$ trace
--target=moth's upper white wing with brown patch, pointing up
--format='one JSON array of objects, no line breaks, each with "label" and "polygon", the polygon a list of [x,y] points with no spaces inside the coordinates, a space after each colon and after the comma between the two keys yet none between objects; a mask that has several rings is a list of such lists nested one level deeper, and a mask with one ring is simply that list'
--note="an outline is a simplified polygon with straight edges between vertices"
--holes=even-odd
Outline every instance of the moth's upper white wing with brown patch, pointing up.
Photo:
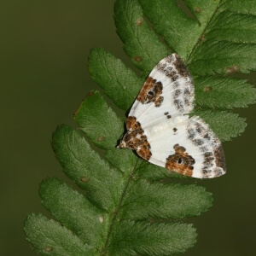
[{"label": "moth's upper white wing with brown patch, pointing up", "polygon": [[190,113],[194,97],[189,70],[177,54],[172,54],[161,60],[148,75],[129,116],[135,116],[144,125],[154,125],[160,119]]}]

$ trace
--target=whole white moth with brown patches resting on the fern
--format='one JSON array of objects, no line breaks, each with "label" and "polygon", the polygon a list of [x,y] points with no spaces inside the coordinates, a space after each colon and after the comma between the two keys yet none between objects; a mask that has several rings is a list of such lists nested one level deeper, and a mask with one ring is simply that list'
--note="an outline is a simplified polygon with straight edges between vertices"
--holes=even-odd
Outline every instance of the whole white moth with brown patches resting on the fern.
[{"label": "whole white moth with brown patches resting on the fern", "polygon": [[126,121],[118,148],[131,148],[144,160],[189,177],[218,177],[226,172],[224,150],[194,109],[195,89],[177,54],[162,59],[149,73]]}]

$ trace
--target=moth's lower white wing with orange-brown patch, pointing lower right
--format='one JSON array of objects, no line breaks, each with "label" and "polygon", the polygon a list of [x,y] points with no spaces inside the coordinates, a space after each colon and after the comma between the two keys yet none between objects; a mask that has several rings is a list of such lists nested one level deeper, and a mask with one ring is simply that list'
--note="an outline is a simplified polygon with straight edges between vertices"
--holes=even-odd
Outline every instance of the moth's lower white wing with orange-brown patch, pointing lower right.
[{"label": "moth's lower white wing with orange-brown patch, pointing lower right", "polygon": [[226,171],[218,137],[198,116],[177,117],[143,131],[150,145],[148,161],[154,165],[199,178],[218,177]]}]

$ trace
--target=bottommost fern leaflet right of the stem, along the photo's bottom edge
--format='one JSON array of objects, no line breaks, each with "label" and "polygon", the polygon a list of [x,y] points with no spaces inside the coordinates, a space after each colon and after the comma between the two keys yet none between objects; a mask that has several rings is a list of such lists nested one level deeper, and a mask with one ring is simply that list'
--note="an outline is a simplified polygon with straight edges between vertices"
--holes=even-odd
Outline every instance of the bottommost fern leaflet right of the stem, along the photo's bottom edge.
[{"label": "bottommost fern leaflet right of the stem, along the photo's bottom edge", "polygon": [[191,224],[123,221],[113,229],[108,255],[172,255],[195,243]]}]

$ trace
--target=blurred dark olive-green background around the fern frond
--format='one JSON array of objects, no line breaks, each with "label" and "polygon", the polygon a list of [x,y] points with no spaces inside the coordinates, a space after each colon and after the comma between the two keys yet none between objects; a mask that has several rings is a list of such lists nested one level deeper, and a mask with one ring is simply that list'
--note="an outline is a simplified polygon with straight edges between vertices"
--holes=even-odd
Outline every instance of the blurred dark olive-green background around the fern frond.
[{"label": "blurred dark olive-green background around the fern frond", "polygon": [[[113,0],[13,0],[0,3],[1,235],[0,255],[37,255],[22,231],[40,205],[45,177],[67,178],[50,146],[59,124],[74,125],[73,112],[91,89],[87,58],[103,47],[129,63],[115,33]],[[256,60],[255,60],[256,61]],[[256,75],[249,81],[256,84]],[[214,207],[195,224],[198,242],[184,255],[253,255],[256,234],[256,105],[236,110],[247,130],[224,143],[228,173],[197,183],[214,195]],[[69,182],[70,183],[70,182]]]}]

